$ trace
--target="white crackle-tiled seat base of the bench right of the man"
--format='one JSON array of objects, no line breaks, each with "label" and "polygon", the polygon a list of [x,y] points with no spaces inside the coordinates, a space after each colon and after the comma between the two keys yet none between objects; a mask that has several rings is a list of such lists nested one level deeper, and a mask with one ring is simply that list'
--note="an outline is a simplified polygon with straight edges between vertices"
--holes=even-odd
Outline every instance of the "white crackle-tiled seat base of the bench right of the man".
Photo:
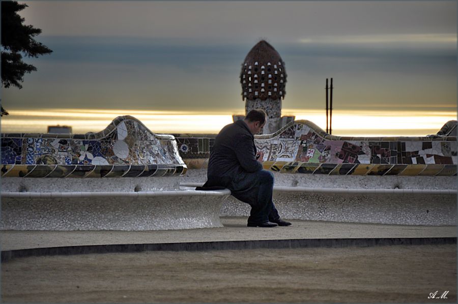
[{"label": "white crackle-tiled seat base of the bench right of the man", "polygon": [[[202,183],[181,183],[197,187]],[[398,225],[456,225],[456,190],[344,189],[274,186],[285,219]],[[221,216],[249,216],[250,207],[227,199]]]}]

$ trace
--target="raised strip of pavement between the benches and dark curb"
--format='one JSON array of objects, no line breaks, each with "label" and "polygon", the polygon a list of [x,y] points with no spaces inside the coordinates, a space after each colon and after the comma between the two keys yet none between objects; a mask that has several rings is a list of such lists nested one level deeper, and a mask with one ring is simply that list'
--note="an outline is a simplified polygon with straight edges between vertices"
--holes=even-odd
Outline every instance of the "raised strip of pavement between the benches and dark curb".
[{"label": "raised strip of pavement between the benches and dark curb", "polygon": [[[3,252],[42,249],[42,254],[46,254],[43,249],[80,246],[90,248],[101,245],[150,245],[149,248],[143,250],[345,247],[378,245],[380,240],[384,240],[383,243],[387,245],[410,244],[406,240],[412,239],[423,240],[423,242],[420,241],[416,244],[435,244],[435,242],[444,242],[443,239],[449,239],[446,241],[449,242],[450,238],[454,238],[454,242],[456,242],[457,234],[456,226],[410,226],[292,220],[293,225],[290,227],[253,228],[246,227],[246,220],[242,217],[225,217],[221,218],[224,227],[187,230],[9,230],[1,232],[1,246]],[[275,243],[278,245],[275,246]],[[152,245],[156,246],[151,247]],[[160,246],[158,247],[158,245]],[[121,247],[117,247],[117,249],[113,248],[110,251],[141,251],[139,247],[135,249],[130,246],[129,248],[123,250]],[[73,250],[75,249],[73,248]],[[100,250],[90,252],[100,252]]]}]

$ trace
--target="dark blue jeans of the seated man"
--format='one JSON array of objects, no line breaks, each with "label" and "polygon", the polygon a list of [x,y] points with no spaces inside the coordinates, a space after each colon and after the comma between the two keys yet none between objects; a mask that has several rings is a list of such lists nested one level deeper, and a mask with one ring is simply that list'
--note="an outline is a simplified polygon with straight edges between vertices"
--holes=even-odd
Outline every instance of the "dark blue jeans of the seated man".
[{"label": "dark blue jeans of the seated man", "polygon": [[280,217],[272,201],[273,173],[267,170],[239,172],[236,177],[208,176],[206,186],[223,186],[232,196],[251,206],[248,223],[260,224]]}]

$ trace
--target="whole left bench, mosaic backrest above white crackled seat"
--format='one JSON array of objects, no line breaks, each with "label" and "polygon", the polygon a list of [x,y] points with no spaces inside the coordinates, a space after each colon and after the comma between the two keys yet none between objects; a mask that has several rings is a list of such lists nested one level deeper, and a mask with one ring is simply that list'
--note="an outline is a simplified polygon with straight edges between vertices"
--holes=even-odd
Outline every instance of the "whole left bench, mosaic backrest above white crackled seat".
[{"label": "whole left bench, mosaic backrest above white crackled seat", "polygon": [[230,191],[186,191],[171,135],[121,116],[99,133],[2,134],[7,230],[159,230],[221,227]]}]

